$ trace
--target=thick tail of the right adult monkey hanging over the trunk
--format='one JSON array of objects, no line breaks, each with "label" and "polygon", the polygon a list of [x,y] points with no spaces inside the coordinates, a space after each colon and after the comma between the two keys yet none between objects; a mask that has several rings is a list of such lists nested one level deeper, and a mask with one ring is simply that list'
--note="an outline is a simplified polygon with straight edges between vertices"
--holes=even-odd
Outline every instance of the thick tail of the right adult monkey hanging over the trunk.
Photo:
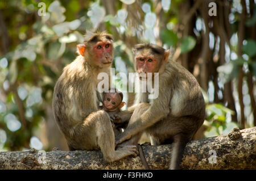
[{"label": "thick tail of the right adult monkey hanging over the trunk", "polygon": [[169,169],[177,170],[180,169],[180,162],[183,156],[185,146],[188,142],[188,136],[185,134],[177,134],[174,137],[174,146],[172,148],[172,158]]}]

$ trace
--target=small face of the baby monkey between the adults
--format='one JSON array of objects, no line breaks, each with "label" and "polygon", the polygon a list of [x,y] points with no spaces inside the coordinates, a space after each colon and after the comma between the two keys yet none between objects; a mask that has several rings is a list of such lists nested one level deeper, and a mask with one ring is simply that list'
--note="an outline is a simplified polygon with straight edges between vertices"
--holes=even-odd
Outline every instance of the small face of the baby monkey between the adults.
[{"label": "small face of the baby monkey between the adults", "polygon": [[108,111],[117,110],[119,104],[121,104],[122,100],[120,96],[116,93],[106,93],[103,100],[103,107]]}]

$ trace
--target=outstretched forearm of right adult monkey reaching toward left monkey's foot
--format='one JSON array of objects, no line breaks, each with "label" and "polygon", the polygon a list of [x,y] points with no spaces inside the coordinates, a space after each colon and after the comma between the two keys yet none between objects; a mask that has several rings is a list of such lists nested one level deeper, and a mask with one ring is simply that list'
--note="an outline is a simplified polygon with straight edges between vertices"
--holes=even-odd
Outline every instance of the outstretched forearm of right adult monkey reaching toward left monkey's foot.
[{"label": "outstretched forearm of right adult monkey reaching toward left monkey's foot", "polygon": [[[159,81],[159,87],[170,87],[168,85],[161,85]],[[144,112],[137,120],[129,122],[125,131],[121,134],[121,137],[117,139],[116,144],[121,144],[125,140],[129,140],[131,136],[139,132],[144,131],[144,129],[155,124],[159,120],[163,119],[170,112],[170,100],[171,100],[171,89],[160,89],[159,96],[154,99],[146,112]]]}]

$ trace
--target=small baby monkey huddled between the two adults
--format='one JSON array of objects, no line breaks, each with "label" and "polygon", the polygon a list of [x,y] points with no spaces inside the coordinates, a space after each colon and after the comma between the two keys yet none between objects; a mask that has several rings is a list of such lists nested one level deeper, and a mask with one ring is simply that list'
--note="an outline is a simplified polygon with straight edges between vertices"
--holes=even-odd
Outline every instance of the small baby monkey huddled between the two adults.
[{"label": "small baby monkey huddled between the two adults", "polygon": [[123,94],[117,89],[109,89],[109,92],[104,92],[103,96],[103,106],[101,108],[108,112],[114,134],[117,136],[122,132],[122,128],[127,127],[133,111],[121,110],[126,103],[122,102]]}]

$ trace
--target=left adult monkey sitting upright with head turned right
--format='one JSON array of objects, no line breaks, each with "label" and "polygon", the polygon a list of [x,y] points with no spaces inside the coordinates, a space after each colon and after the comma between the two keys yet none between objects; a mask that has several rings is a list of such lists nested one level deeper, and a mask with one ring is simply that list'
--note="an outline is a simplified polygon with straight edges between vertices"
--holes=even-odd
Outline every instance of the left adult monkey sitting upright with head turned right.
[{"label": "left adult monkey sitting upright with head turned right", "polygon": [[[136,146],[115,150],[114,132],[108,113],[99,110],[98,73],[110,73],[113,38],[105,32],[87,33],[80,54],[65,66],[53,92],[53,114],[70,150],[100,148],[106,161],[137,155]],[[107,144],[106,144],[107,143]]]}]

